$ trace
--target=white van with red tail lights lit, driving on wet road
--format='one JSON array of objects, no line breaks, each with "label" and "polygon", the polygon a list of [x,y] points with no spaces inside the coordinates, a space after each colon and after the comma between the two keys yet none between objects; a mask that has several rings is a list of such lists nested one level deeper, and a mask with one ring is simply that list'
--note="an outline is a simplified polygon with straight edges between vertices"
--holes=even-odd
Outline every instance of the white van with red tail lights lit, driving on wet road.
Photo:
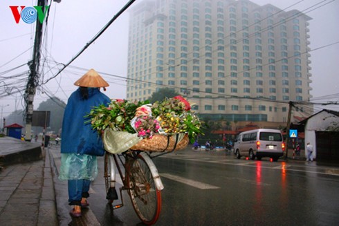
[{"label": "white van with red tail lights lit, driving on wet road", "polygon": [[269,157],[277,161],[284,156],[285,144],[278,129],[253,129],[239,133],[234,148],[238,159],[241,156],[248,156],[251,160]]}]

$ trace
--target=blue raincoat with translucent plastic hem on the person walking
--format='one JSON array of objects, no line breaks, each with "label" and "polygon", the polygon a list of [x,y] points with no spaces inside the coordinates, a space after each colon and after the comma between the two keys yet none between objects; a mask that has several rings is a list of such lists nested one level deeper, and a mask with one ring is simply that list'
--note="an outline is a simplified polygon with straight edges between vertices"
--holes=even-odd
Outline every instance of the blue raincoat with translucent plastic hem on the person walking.
[{"label": "blue raincoat with translucent plastic hem on the person walking", "polygon": [[111,102],[99,88],[88,88],[87,100],[82,100],[80,88],[71,94],[64,111],[62,122],[62,164],[59,171],[60,180],[94,180],[98,175],[96,156],[104,155],[102,139],[91,123],[86,123],[87,115],[93,106]]}]

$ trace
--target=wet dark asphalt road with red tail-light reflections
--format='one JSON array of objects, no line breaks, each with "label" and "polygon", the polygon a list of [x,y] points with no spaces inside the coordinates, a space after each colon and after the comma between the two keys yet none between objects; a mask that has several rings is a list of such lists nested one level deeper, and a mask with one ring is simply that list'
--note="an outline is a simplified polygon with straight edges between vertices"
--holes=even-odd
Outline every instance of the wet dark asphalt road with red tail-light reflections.
[{"label": "wet dark asphalt road with red tail-light reflections", "polygon": [[[56,161],[57,162],[57,161]],[[156,225],[338,225],[339,169],[316,162],[237,160],[225,153],[170,153],[154,158],[165,189]],[[57,165],[57,164],[56,164]],[[100,158],[99,175],[103,175]],[[56,185],[67,216],[66,184]],[[141,225],[127,193],[107,205],[102,176],[89,203],[100,225]],[[58,204],[59,205],[59,204]]]}]

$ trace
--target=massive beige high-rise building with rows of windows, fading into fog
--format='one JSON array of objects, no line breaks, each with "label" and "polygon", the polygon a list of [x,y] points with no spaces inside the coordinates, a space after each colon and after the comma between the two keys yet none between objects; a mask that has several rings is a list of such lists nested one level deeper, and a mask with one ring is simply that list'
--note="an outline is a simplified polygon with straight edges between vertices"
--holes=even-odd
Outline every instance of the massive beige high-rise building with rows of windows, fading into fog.
[{"label": "massive beige high-rise building with rows of windows, fading into fog", "polygon": [[248,0],[144,0],[130,10],[127,99],[174,88],[211,119],[286,122],[288,102],[311,97],[310,19]]}]

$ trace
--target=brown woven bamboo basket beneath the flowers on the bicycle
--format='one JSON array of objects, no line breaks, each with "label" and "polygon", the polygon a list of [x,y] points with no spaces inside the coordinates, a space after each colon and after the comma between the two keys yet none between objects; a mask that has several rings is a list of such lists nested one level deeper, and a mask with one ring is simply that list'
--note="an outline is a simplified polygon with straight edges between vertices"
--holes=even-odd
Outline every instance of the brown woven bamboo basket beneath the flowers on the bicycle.
[{"label": "brown woven bamboo basket beneath the flowers on the bicycle", "polygon": [[176,135],[160,135],[156,134],[152,139],[143,139],[138,144],[129,148],[138,151],[178,151],[185,149],[189,142],[188,135],[178,133]]}]

